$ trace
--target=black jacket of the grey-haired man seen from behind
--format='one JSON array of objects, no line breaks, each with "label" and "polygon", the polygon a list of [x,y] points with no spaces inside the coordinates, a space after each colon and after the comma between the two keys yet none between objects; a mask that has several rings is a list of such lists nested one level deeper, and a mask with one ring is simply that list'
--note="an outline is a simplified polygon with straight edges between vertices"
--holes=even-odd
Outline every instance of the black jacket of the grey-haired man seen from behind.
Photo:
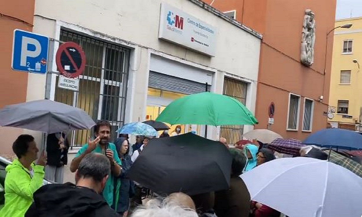
[{"label": "black jacket of the grey-haired man seen from behind", "polygon": [[119,217],[102,195],[72,183],[47,184],[34,193],[25,217]]}]

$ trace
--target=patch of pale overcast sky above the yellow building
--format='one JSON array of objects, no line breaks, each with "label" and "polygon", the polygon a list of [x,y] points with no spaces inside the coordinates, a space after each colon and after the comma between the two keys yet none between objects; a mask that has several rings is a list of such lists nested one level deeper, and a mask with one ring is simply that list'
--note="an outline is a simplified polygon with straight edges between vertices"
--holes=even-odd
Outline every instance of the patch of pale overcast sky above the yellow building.
[{"label": "patch of pale overcast sky above the yellow building", "polygon": [[336,20],[362,17],[362,0],[337,0]]}]

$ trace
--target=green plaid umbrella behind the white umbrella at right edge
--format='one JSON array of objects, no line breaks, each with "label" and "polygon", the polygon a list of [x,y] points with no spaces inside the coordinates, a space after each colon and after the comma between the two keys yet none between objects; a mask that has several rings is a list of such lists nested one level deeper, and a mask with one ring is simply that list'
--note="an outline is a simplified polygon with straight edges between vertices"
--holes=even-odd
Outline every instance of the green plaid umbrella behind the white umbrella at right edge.
[{"label": "green plaid umbrella behind the white umbrella at right edge", "polygon": [[[324,150],[324,152],[329,154],[329,150]],[[329,156],[329,161],[338,164],[352,171],[358,176],[362,177],[362,165],[348,157],[338,154],[337,152],[331,151],[331,156]]]}]

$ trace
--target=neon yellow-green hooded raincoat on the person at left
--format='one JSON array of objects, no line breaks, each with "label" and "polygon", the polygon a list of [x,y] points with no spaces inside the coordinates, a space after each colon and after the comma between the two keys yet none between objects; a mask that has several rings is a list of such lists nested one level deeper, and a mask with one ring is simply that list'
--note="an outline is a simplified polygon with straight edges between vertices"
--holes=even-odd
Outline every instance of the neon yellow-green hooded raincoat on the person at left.
[{"label": "neon yellow-green hooded raincoat on the person at left", "polygon": [[6,167],[5,206],[0,216],[24,217],[33,203],[33,193],[43,185],[44,166],[31,165],[33,175],[18,159]]}]

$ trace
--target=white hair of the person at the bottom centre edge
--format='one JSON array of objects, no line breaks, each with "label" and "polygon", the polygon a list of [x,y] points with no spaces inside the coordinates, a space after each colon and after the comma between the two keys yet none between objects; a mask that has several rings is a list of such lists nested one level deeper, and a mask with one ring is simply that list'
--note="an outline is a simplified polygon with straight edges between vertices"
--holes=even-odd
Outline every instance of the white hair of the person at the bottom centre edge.
[{"label": "white hair of the person at the bottom centre edge", "polygon": [[131,217],[198,217],[195,210],[181,207],[173,200],[153,199],[136,209]]}]

